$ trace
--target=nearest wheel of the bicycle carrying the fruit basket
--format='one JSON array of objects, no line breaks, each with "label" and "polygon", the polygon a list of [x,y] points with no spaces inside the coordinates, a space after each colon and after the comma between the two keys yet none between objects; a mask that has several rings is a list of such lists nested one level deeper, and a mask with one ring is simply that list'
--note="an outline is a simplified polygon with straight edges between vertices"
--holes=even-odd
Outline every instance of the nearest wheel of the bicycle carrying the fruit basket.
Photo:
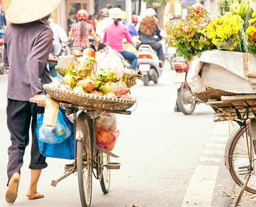
[{"label": "nearest wheel of the bicycle carrying the fruit basket", "polygon": [[89,117],[80,113],[77,117],[77,174],[80,201],[82,207],[89,207],[92,200],[92,127]]}]

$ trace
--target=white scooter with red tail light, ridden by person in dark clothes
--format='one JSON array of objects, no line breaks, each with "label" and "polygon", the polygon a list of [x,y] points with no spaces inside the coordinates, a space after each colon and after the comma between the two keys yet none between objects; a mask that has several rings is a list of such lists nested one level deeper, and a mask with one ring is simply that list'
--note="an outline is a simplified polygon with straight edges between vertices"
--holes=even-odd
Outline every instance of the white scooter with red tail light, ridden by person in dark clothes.
[{"label": "white scooter with red tail light, ridden by person in dark clothes", "polygon": [[137,53],[137,68],[143,73],[143,84],[148,86],[150,81],[158,83],[163,66],[159,66],[159,58],[156,51],[147,44],[140,45]]}]

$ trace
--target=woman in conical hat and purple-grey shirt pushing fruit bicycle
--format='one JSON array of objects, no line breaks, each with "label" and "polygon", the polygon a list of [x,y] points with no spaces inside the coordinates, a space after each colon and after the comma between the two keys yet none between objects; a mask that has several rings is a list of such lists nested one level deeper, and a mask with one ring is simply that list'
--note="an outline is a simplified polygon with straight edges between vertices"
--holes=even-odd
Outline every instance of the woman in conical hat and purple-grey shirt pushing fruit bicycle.
[{"label": "woman in conical hat and purple-grey shirt pushing fruit bicycle", "polygon": [[6,201],[13,203],[17,197],[20,168],[25,148],[29,143],[31,124],[32,145],[31,181],[27,192],[29,199],[43,198],[37,192],[41,169],[47,167],[46,158],[38,149],[36,138],[37,114],[44,108],[29,102],[31,97],[45,98],[42,84],[50,83],[46,68],[53,42],[51,29],[41,21],[52,13],[61,0],[12,0],[6,19],[3,60],[9,66],[7,89],[7,126],[11,146],[8,148],[8,189]]}]

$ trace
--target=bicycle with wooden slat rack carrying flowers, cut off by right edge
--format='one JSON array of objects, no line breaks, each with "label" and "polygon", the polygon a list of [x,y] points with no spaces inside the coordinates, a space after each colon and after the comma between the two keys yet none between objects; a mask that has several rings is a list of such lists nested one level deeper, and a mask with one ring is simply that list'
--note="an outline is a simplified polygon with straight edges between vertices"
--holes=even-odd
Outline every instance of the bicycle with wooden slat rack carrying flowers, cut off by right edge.
[{"label": "bicycle with wooden slat rack carrying flowers, cut off by right edge", "polygon": [[215,121],[236,121],[239,126],[230,135],[225,148],[225,165],[241,191],[234,204],[237,207],[247,191],[256,194],[256,96],[222,96],[221,101],[208,101],[215,113]]}]

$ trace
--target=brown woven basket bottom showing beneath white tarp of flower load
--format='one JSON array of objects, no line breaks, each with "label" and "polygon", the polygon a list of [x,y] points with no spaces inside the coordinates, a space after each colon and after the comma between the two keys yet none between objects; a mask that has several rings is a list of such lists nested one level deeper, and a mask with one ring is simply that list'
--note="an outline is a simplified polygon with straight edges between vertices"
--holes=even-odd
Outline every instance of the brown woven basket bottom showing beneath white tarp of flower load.
[{"label": "brown woven basket bottom showing beneath white tarp of flower load", "polygon": [[200,100],[207,102],[209,99],[217,99],[221,100],[221,96],[228,96],[228,95],[237,95],[236,93],[231,93],[227,91],[223,91],[220,89],[214,89],[210,87],[205,87],[206,91],[202,93],[195,93]]}]

